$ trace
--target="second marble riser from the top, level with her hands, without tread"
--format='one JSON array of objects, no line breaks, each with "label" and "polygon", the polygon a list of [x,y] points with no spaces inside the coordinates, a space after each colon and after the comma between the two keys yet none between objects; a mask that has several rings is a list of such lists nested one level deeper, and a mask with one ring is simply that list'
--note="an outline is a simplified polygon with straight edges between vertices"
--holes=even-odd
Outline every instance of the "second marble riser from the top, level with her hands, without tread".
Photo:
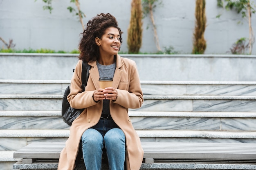
[{"label": "second marble riser from the top, level with her hands, without tread", "polygon": [[[0,110],[61,110],[61,106],[62,99],[0,99]],[[145,99],[134,110],[256,112],[256,100]]]}]

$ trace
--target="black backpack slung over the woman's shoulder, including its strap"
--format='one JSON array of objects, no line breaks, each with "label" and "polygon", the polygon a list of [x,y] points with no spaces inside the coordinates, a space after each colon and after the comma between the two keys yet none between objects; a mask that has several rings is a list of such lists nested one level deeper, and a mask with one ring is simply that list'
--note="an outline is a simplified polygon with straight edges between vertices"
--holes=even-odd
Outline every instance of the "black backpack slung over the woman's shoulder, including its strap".
[{"label": "black backpack slung over the woman's shoulder, including its strap", "polygon": [[[85,86],[87,85],[87,81],[88,81],[88,77],[89,77],[89,70],[90,70],[90,66],[83,62],[82,64],[82,85],[81,88],[83,89],[83,91],[85,91]],[[74,72],[74,69],[73,69]],[[63,121],[71,126],[72,122],[74,121],[74,119],[76,119],[84,110],[84,108],[82,109],[75,109],[70,107],[70,103],[67,101],[67,95],[70,94],[70,84],[67,86],[64,95],[63,95],[63,99],[62,99],[62,108],[61,108],[61,114],[62,114],[62,119]]]}]

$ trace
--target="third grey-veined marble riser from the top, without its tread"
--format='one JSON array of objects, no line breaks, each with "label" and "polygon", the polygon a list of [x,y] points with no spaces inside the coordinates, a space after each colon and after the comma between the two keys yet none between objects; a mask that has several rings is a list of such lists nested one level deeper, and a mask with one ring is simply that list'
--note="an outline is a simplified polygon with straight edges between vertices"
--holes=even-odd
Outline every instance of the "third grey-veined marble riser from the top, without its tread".
[{"label": "third grey-veined marble riser from the top, without its tread", "polygon": [[[68,129],[61,117],[2,116],[0,129]],[[136,130],[256,130],[255,118],[130,117]]]}]

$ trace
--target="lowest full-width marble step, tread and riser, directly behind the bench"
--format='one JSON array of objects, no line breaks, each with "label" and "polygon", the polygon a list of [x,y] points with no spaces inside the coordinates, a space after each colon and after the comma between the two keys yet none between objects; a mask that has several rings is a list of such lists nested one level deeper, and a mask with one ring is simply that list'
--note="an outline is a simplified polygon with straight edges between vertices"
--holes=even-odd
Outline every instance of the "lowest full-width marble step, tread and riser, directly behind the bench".
[{"label": "lowest full-width marble step, tread and riser, directly behind the bench", "polygon": [[[256,143],[255,131],[136,130],[144,142]],[[31,142],[65,142],[69,130],[0,130],[0,150],[18,150]]]}]

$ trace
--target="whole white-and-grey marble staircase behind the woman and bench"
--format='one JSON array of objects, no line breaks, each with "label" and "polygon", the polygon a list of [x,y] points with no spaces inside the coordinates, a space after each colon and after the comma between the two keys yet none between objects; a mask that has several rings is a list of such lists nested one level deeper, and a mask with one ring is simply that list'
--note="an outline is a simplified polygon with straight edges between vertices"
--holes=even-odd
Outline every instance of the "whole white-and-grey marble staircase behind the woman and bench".
[{"label": "whole white-and-grey marble staircase behind the woman and bench", "polygon": [[[67,80],[0,79],[0,169],[31,142],[62,141]],[[141,81],[144,104],[130,110],[141,141],[256,143],[256,82]]]}]

